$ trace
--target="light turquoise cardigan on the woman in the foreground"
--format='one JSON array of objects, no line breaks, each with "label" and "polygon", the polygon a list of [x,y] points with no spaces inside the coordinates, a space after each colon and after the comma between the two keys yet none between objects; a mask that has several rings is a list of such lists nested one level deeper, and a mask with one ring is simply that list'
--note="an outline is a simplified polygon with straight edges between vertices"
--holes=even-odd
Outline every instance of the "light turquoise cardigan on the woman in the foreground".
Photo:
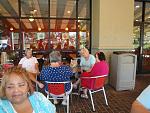
[{"label": "light turquoise cardigan on the woman in the foreground", "polygon": [[[35,113],[56,113],[55,106],[42,93],[34,92],[29,101]],[[15,113],[10,101],[0,99],[0,113]]]}]

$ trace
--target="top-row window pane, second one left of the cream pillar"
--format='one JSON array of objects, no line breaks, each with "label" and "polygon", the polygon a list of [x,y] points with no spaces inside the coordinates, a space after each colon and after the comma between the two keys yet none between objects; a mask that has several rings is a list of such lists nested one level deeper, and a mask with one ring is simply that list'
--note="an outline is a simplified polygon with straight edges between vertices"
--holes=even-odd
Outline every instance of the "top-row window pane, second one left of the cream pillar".
[{"label": "top-row window pane, second one left of the cream pillar", "polygon": [[76,0],[50,0],[50,17],[75,18]]}]

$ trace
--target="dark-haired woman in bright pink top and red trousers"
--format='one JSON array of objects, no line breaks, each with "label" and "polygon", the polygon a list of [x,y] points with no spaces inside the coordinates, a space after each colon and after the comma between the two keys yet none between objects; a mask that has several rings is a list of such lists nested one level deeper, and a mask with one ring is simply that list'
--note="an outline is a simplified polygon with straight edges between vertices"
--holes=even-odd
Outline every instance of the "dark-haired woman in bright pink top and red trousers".
[{"label": "dark-haired woman in bright pink top and red trousers", "polygon": [[[96,63],[92,67],[91,71],[83,72],[81,74],[81,77],[94,77],[94,76],[100,76],[100,75],[108,75],[109,67],[106,62],[105,54],[103,52],[97,52],[95,54],[95,58],[96,58]],[[83,94],[81,95],[81,97],[88,98],[86,88],[90,88],[93,81],[94,80],[92,79],[91,80],[81,79],[81,86],[85,88],[83,89]]]}]

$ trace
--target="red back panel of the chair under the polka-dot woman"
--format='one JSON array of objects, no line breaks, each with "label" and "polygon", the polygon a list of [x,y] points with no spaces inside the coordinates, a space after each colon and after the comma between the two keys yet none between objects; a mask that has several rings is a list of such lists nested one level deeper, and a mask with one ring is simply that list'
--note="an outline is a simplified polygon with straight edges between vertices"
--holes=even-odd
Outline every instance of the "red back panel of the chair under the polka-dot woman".
[{"label": "red back panel of the chair under the polka-dot woman", "polygon": [[48,83],[48,91],[54,95],[61,95],[65,93],[64,83]]}]

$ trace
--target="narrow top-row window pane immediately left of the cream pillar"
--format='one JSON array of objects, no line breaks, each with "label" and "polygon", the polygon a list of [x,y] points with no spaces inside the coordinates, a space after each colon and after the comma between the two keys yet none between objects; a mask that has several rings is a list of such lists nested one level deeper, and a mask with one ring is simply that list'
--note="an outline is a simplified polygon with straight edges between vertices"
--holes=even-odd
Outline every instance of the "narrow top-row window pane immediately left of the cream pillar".
[{"label": "narrow top-row window pane immediately left of the cream pillar", "polygon": [[79,0],[78,18],[90,18],[90,0]]}]

